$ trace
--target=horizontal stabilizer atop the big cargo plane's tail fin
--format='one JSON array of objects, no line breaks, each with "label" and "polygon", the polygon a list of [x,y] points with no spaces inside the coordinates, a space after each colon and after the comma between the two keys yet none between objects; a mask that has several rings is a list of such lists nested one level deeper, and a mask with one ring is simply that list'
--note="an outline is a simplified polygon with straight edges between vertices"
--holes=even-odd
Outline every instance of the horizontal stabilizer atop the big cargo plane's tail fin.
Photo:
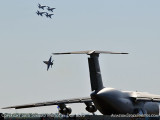
[{"label": "horizontal stabilizer atop the big cargo plane's tail fin", "polygon": [[75,51],[75,52],[63,52],[63,53],[53,53],[54,55],[61,55],[61,54],[128,54],[123,52],[111,52],[111,51],[98,51],[98,50],[88,50],[88,51]]}]

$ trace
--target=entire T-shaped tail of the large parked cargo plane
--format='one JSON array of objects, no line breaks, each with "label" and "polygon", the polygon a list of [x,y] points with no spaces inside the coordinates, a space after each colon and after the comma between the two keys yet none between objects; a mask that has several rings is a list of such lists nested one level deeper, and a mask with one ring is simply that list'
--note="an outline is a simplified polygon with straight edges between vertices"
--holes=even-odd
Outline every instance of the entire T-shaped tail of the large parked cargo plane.
[{"label": "entire T-shaped tail of the large parked cargo plane", "polygon": [[98,50],[88,50],[88,51],[76,51],[76,52],[62,52],[62,53],[53,53],[54,55],[62,54],[87,54],[90,55],[88,58],[89,72],[90,72],[90,82],[92,91],[99,91],[104,88],[102,82],[102,76],[99,66],[99,54],[128,54],[123,52],[111,52],[111,51],[98,51]]}]

